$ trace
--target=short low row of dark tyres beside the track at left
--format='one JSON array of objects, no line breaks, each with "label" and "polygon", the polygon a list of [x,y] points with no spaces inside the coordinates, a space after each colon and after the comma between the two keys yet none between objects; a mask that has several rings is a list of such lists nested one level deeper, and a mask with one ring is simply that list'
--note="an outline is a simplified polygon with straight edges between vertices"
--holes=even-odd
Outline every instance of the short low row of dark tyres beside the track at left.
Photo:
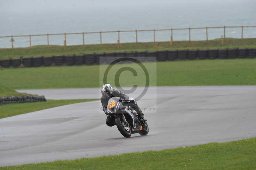
[{"label": "short low row of dark tyres beside the track at left", "polygon": [[46,98],[44,96],[0,97],[0,105],[11,104],[11,103],[31,103],[31,102],[46,102]]}]

